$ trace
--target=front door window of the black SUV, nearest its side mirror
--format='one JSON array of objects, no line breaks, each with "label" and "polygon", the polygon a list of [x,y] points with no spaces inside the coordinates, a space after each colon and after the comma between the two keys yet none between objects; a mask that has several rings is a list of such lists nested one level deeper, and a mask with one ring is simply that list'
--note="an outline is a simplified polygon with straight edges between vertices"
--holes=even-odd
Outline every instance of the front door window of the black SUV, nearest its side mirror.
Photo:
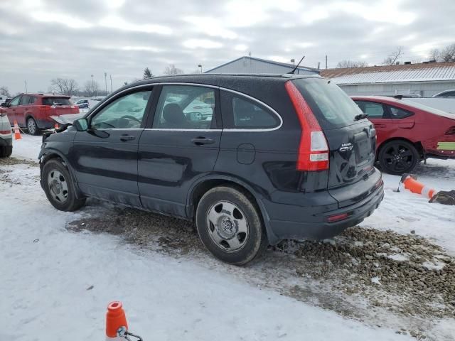
[{"label": "front door window of the black SUV, nearest its side mirror", "polygon": [[140,128],[151,91],[134,92],[107,105],[92,118],[95,129]]}]

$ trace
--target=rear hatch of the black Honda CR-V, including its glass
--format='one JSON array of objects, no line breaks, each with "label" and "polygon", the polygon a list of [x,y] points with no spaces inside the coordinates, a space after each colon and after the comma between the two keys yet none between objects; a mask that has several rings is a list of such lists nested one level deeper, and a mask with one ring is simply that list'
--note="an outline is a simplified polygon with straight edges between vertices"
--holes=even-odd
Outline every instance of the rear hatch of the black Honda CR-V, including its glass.
[{"label": "rear hatch of the black Honda CR-V, including its glass", "polygon": [[329,148],[328,192],[339,207],[363,200],[380,185],[374,167],[376,131],[331,80],[302,78],[294,85],[319,121]]}]

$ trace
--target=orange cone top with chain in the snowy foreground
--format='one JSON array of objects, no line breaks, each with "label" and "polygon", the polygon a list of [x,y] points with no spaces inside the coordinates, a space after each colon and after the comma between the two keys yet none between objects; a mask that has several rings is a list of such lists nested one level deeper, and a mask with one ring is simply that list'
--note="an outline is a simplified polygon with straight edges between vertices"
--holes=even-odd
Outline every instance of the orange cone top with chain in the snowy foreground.
[{"label": "orange cone top with chain in the snowy foreground", "polygon": [[106,340],[129,340],[129,337],[136,337],[142,341],[141,337],[128,331],[127,316],[123,310],[122,302],[114,301],[107,305],[106,313]]}]

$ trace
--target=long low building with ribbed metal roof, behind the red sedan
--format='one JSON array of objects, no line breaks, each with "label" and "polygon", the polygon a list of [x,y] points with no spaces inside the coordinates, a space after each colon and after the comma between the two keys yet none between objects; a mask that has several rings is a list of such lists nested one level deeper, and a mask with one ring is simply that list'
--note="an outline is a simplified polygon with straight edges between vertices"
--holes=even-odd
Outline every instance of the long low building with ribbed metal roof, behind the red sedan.
[{"label": "long low building with ribbed metal roof, behind the red sedan", "polygon": [[420,94],[455,89],[455,63],[418,63],[321,70],[348,94]]}]

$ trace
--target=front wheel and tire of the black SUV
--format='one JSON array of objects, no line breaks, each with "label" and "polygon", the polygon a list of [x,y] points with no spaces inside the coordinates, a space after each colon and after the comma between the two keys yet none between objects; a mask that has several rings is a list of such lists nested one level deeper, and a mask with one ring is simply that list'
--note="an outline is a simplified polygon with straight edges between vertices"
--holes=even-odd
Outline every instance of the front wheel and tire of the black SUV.
[{"label": "front wheel and tire of the black SUV", "polygon": [[41,181],[46,197],[57,210],[73,212],[85,205],[85,197],[76,197],[73,179],[60,159],[53,158],[44,164]]}]

